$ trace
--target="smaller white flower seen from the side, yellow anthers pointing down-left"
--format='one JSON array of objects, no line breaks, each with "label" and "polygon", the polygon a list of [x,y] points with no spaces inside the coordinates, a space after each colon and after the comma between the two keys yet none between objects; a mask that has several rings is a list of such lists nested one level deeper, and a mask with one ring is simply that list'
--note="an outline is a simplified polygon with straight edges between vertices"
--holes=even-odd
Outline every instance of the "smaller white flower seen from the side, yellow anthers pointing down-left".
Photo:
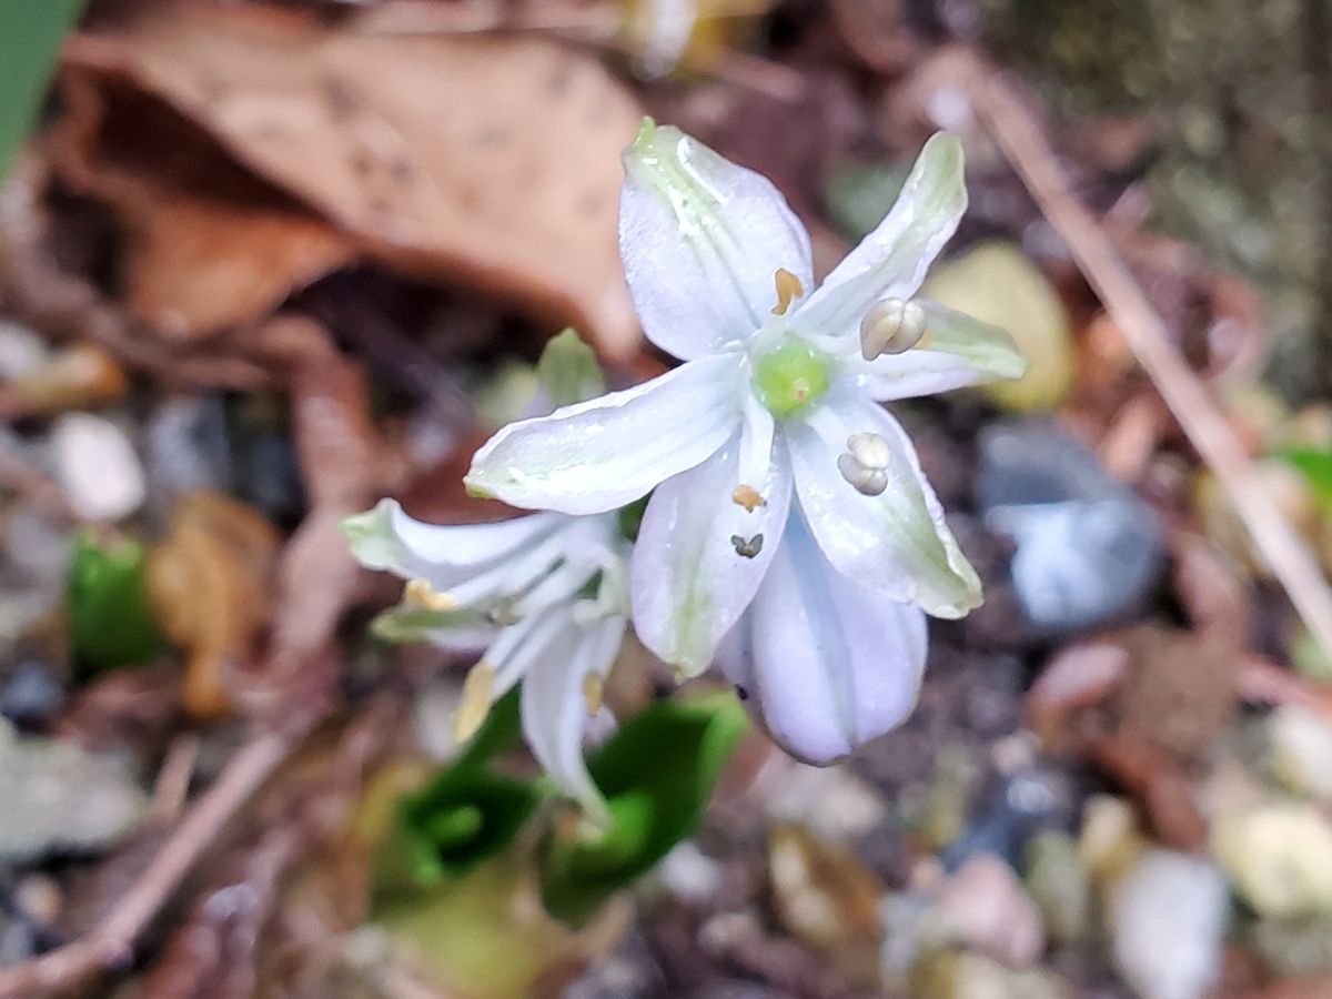
[{"label": "smaller white flower seen from the side, yellow anthers pointing down-left", "polygon": [[362,565],[409,581],[404,602],[377,622],[380,634],[458,651],[485,647],[454,715],[458,742],[522,681],[522,731],[533,754],[593,819],[605,819],[582,733],[603,710],[601,685],[629,615],[615,515],[437,526],[382,500],[342,530]]}]

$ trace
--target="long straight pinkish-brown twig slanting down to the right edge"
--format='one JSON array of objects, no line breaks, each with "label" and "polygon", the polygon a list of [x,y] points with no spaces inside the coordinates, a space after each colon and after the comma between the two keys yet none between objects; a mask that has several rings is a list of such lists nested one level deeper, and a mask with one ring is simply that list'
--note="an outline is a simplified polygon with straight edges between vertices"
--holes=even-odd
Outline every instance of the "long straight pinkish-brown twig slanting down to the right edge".
[{"label": "long straight pinkish-brown twig slanting down to the right edge", "polygon": [[1100,296],[1138,362],[1216,473],[1253,542],[1323,651],[1332,657],[1332,591],[1308,547],[1281,515],[1224,414],[1171,342],[1166,324],[1098,225],[1070,189],[1050,143],[1014,88],[979,55],[955,49],[939,57],[1059,232],[1087,282]]}]

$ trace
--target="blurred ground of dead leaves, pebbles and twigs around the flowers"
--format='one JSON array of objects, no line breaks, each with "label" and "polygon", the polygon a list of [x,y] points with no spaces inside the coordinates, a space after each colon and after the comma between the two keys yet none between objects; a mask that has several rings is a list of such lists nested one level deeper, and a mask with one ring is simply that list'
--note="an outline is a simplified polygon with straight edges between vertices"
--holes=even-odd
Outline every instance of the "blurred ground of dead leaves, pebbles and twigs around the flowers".
[{"label": "blurred ground of dead leaves, pebbles and twigs around the flowers", "polygon": [[[570,922],[534,826],[429,825],[469,662],[368,633],[336,525],[494,518],[566,325],[665,370],[645,113],[819,272],[959,135],[927,290],[1031,368],[895,406],[987,590],[911,719],[750,730]],[[0,995],[1332,995],[1325,0],[8,0],[0,173]]]}]

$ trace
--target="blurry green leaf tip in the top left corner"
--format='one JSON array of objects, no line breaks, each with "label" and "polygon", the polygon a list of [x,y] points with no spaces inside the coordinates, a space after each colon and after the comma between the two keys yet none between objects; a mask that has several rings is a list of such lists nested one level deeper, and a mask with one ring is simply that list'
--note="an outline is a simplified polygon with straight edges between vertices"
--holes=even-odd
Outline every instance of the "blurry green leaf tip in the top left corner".
[{"label": "blurry green leaf tip in the top left corner", "polygon": [[0,3],[0,177],[27,139],[83,0]]}]

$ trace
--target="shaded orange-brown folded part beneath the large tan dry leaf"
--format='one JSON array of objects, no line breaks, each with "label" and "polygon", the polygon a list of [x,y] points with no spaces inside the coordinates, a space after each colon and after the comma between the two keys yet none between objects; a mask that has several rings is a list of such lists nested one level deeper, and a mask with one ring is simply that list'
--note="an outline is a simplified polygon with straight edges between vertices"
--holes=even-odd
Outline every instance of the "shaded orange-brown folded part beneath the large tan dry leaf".
[{"label": "shaded orange-brown folded part beneath the large tan dry leaf", "polygon": [[174,340],[246,322],[353,260],[353,241],[236,165],[161,101],[71,63],[52,145],[75,189],[125,230],[125,309]]}]

